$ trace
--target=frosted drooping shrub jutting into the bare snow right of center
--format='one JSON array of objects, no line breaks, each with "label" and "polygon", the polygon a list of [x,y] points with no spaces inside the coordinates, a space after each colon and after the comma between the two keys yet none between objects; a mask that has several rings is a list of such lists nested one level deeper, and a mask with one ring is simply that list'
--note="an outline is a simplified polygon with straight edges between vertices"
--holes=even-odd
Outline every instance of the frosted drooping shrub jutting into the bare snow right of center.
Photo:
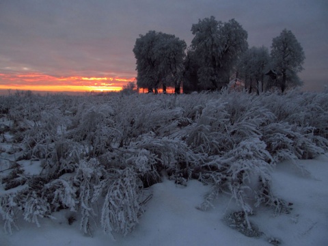
[{"label": "frosted drooping shrub jutting into the bare snow right of center", "polygon": [[258,189],[256,182],[259,179],[271,180],[269,163],[272,157],[265,148],[263,141],[250,138],[221,157],[211,157],[212,161],[204,164],[204,168],[211,172],[204,172],[203,177],[213,183],[213,191],[205,197],[199,209],[206,210],[217,194],[226,192],[241,206],[245,215],[252,213],[251,204],[247,200],[255,197]]}]

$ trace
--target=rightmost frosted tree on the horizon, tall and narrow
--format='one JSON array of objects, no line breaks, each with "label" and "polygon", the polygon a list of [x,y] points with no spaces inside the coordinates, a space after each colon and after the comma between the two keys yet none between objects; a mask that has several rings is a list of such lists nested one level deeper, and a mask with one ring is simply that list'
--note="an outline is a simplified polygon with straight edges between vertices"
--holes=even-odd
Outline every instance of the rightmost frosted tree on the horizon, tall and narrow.
[{"label": "rightmost frosted tree on the horizon, tall and narrow", "polygon": [[292,31],[284,29],[279,36],[273,38],[271,58],[274,69],[281,74],[280,89],[301,85],[297,72],[303,70],[305,54],[301,44]]}]

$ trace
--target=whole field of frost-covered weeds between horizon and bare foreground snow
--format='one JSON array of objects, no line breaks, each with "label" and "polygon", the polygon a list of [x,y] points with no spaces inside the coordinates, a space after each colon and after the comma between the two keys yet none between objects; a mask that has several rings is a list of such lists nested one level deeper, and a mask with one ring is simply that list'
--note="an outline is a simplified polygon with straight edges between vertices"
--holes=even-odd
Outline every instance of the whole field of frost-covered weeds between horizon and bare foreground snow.
[{"label": "whole field of frost-covered weeds between horizon and bare foreground snow", "polygon": [[248,216],[262,204],[289,213],[291,204],[272,192],[270,172],[277,162],[327,152],[327,98],[327,92],[229,90],[10,96],[0,109],[10,120],[5,141],[16,147],[8,154],[41,160],[43,169],[33,176],[18,167],[1,172],[9,193],[0,195],[5,230],[12,231],[16,217],[39,224],[70,209],[85,234],[97,221],[107,232],[126,234],[143,213],[144,188],[163,176],[213,185],[201,210],[228,194],[240,207],[230,219],[248,228]]}]

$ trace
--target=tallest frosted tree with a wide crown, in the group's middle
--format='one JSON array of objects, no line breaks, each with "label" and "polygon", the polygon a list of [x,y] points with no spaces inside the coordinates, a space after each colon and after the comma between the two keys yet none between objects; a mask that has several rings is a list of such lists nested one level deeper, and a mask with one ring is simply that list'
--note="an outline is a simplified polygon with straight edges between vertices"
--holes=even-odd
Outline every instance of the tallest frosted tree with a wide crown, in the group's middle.
[{"label": "tallest frosted tree with a wide crown, in the group's middle", "polygon": [[247,50],[247,31],[234,19],[228,23],[214,16],[199,20],[191,31],[191,51],[197,57],[197,79],[203,89],[221,89],[230,81],[236,61]]}]

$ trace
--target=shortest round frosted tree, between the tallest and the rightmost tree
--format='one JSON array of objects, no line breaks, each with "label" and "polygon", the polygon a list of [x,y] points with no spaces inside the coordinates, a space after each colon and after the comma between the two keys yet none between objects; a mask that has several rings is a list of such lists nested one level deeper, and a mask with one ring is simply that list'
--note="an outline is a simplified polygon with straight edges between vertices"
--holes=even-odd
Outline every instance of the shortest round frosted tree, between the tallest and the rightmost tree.
[{"label": "shortest round frosted tree, between the tallest and the rightmost tree", "polygon": [[249,85],[249,92],[253,88],[254,81],[256,82],[256,91],[258,94],[263,91],[264,75],[269,70],[271,62],[269,50],[265,46],[251,47],[241,57],[237,72],[239,77],[245,81],[245,85]]}]

